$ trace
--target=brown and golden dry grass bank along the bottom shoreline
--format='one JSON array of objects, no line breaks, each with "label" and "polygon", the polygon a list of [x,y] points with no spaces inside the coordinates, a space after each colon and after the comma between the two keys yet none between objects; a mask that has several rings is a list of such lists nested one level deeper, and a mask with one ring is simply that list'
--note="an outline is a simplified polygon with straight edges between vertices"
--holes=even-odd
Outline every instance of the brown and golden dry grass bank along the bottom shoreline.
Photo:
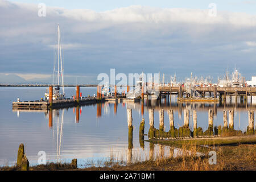
[{"label": "brown and golden dry grass bank along the bottom shoreline", "polygon": [[[204,147],[204,156],[197,156],[200,146],[183,144],[181,150],[190,151],[191,154],[184,152],[179,157],[158,155],[154,160],[146,160],[145,162],[137,162],[121,166],[118,163],[106,164],[104,167],[74,168],[72,164],[54,164],[39,165],[30,167],[30,171],[52,171],[52,170],[115,170],[115,171],[144,171],[144,170],[256,170],[256,145],[255,144],[239,144],[234,146],[215,146],[214,151],[217,154],[217,164],[210,165],[209,151],[212,148]],[[200,149],[200,152],[202,150]],[[18,167],[2,167],[0,170],[19,170]]]}]

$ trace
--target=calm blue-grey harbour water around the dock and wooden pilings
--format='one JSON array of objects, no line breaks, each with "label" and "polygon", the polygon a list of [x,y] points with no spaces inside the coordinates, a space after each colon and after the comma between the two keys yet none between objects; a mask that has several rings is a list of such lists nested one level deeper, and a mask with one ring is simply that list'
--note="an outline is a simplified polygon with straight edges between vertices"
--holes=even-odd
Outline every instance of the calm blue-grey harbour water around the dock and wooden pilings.
[{"label": "calm blue-grey harbour water around the dock and wooden pilings", "polygon": [[[96,88],[80,88],[82,96],[93,95]],[[12,102],[19,97],[21,101],[40,100],[44,96],[46,88],[0,88],[0,166],[13,165],[20,143],[24,143],[27,158],[31,165],[38,164],[38,152],[45,151],[47,162],[70,162],[77,158],[79,167],[84,167],[88,162],[108,160],[110,156],[126,160],[128,150],[127,108],[133,109],[133,161],[138,158],[148,159],[150,145],[144,142],[144,148],[139,143],[139,124],[145,119],[145,133],[149,129],[147,109],[155,107],[155,127],[159,127],[158,109],[164,109],[164,125],[166,131],[170,129],[167,110],[174,110],[175,127],[183,126],[183,109],[197,110],[197,126],[203,130],[208,128],[208,109],[215,110],[214,126],[223,126],[224,109],[234,109],[234,129],[245,131],[248,125],[247,111],[255,110],[255,98],[248,105],[237,105],[227,100],[224,105],[209,104],[183,104],[176,103],[172,96],[172,105],[168,101],[159,106],[159,103],[144,105],[144,113],[141,104],[114,104],[105,102],[102,105],[87,105],[79,108],[79,119],[76,117],[77,108],[53,110],[52,127],[49,127],[48,111],[14,111]],[[65,88],[66,96],[75,94],[75,88]],[[101,107],[101,113],[99,112]],[[98,111],[97,111],[98,108]],[[143,115],[142,115],[143,113]],[[192,118],[192,117],[191,117]],[[79,120],[79,121],[78,121]],[[192,128],[192,119],[191,128]],[[145,136],[145,139],[147,137]],[[170,147],[155,146],[155,155],[160,150],[166,151]]]}]

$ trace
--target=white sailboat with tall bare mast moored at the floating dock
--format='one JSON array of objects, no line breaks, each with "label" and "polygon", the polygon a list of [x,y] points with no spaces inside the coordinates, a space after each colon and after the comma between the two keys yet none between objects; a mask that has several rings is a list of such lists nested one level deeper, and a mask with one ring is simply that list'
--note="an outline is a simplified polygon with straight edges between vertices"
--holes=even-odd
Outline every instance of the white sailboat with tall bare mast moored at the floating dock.
[{"label": "white sailboat with tall bare mast moored at the floating dock", "polygon": [[[55,46],[56,51],[55,54],[57,56],[57,71],[55,70],[56,65],[56,59],[55,64],[53,67],[53,81],[52,85],[53,87],[53,93],[52,93],[52,100],[61,100],[65,98],[65,92],[64,92],[64,82],[63,82],[63,59],[62,59],[62,49],[61,49],[61,39],[60,39],[60,24],[58,24],[58,30],[57,30],[57,46]],[[57,73],[57,77],[55,77],[55,74]],[[62,87],[62,93],[60,93],[60,86]],[[49,100],[49,88],[46,89],[46,93],[44,94],[46,97],[46,100]]]}]

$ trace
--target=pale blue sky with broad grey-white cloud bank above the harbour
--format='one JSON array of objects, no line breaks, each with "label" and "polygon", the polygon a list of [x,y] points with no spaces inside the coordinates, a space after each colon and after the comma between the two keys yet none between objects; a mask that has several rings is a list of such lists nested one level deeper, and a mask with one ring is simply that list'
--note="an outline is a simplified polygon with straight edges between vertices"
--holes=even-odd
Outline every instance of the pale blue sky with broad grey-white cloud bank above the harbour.
[{"label": "pale blue sky with broad grey-white cloud bank above the harbour", "polygon": [[236,67],[250,80],[255,9],[256,1],[0,0],[0,83],[51,81],[58,23],[69,82],[96,82],[110,68],[217,80]]}]

